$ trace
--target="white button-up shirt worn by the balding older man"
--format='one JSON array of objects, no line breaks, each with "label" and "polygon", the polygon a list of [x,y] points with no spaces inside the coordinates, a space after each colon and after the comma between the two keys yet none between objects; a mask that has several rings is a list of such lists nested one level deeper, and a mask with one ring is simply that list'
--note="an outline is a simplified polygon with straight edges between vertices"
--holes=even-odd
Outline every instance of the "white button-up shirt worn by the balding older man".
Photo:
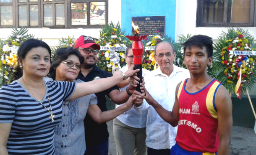
[{"label": "white button-up shirt worn by the balding older man", "polygon": [[[163,74],[160,68],[146,74],[146,90],[162,105],[163,108],[172,111],[175,102],[175,90],[180,81],[190,77],[189,71],[173,65],[170,76]],[[153,149],[170,149],[175,145],[175,137],[178,127],[172,127],[165,122],[156,110],[149,106],[146,100],[140,107],[133,107],[138,111],[148,109],[146,120],[146,146]]]}]

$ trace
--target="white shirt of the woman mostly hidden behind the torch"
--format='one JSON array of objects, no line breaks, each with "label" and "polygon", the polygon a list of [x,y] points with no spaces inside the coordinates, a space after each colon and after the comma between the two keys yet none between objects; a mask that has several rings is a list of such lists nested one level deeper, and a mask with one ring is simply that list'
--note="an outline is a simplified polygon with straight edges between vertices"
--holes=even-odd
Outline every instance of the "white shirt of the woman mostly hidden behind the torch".
[{"label": "white shirt of the woman mostly hidden behind the torch", "polygon": [[[119,71],[127,71],[128,66],[127,64],[123,66]],[[146,74],[150,73],[149,70],[142,69],[142,76],[145,76]],[[120,88],[120,91],[125,91],[127,86],[124,88]],[[124,104],[124,103],[123,103]],[[120,107],[121,105],[116,105],[117,107]],[[125,125],[128,125],[130,127],[136,127],[136,128],[142,128],[146,127],[146,116],[147,116],[148,110],[140,110],[137,111],[134,108],[131,108],[130,110],[124,112],[123,114],[120,114],[118,117],[116,117],[120,122],[122,122]]]}]

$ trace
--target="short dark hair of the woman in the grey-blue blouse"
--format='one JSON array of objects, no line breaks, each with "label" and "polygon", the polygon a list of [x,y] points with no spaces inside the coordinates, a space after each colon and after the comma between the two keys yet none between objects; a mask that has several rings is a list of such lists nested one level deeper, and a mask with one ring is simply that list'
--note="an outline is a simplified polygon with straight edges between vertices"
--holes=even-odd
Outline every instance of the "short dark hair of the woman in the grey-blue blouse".
[{"label": "short dark hair of the woman in the grey-blue blouse", "polygon": [[80,64],[84,63],[84,56],[82,56],[77,49],[74,49],[72,47],[58,48],[55,51],[54,56],[52,58],[52,64],[50,67],[48,77],[55,80],[57,66],[59,66],[62,61],[65,61],[70,55],[76,55],[79,59]]}]

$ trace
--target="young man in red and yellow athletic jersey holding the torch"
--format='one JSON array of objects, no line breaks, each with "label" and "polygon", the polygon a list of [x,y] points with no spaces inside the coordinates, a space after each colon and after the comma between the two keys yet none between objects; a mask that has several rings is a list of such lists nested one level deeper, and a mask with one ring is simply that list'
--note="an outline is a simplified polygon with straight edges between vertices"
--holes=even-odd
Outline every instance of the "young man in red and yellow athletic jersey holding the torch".
[{"label": "young man in red and yellow athletic jersey holding the torch", "polygon": [[171,155],[230,154],[232,102],[225,87],[206,72],[212,64],[212,38],[196,35],[183,44],[188,78],[176,86],[167,111],[146,91],[144,99],[172,126],[178,126]]}]

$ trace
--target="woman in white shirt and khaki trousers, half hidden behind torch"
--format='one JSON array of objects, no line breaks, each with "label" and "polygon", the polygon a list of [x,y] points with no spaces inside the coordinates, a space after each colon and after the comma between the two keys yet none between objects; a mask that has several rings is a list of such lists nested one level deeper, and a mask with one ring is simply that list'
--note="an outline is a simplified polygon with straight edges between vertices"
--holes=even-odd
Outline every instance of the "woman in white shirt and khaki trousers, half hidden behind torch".
[{"label": "woman in white shirt and khaki trousers, half hidden behind torch", "polygon": [[[129,45],[125,51],[126,65],[120,70],[116,71],[114,75],[120,74],[120,71],[127,71],[133,68],[133,52],[132,45]],[[142,69],[142,74],[145,76],[150,71]],[[120,91],[124,91],[128,88],[130,78],[124,80],[118,84]],[[117,105],[119,108],[123,104]],[[136,109],[130,110],[120,114],[114,119],[113,134],[117,147],[117,155],[146,155],[147,147],[145,144],[146,139],[146,116],[147,110],[138,112]]]}]

